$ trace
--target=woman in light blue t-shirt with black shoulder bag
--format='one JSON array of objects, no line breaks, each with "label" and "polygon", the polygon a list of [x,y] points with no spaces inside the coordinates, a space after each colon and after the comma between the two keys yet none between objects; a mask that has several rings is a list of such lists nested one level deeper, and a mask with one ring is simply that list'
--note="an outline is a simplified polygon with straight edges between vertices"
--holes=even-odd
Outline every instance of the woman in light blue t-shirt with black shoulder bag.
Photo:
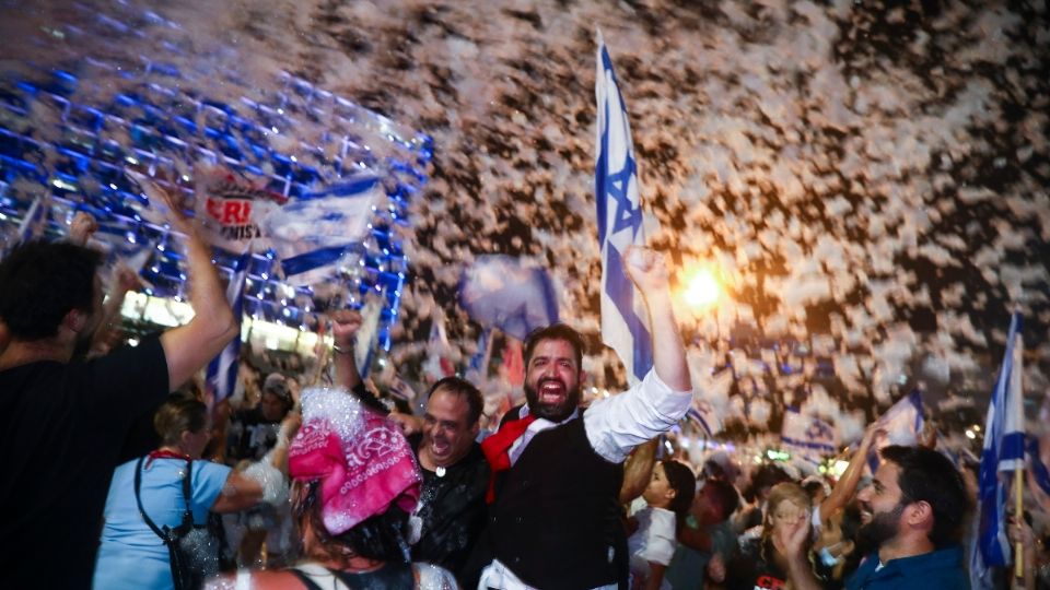
[{"label": "woman in light blue t-shirt with black shoulder bag", "polygon": [[260,502],[287,502],[288,486],[281,469],[288,439],[299,426],[298,417],[282,425],[282,442],[271,455],[244,472],[201,460],[211,438],[209,422],[203,402],[173,396],[153,416],[160,448],[114,471],[94,588],[160,590],[192,586],[195,581],[187,581],[190,578],[203,581],[205,576],[218,571],[218,544],[199,538],[199,568],[187,578],[185,570],[173,569],[165,534],[186,527],[188,519],[195,529],[205,527],[209,511],[234,512]]}]

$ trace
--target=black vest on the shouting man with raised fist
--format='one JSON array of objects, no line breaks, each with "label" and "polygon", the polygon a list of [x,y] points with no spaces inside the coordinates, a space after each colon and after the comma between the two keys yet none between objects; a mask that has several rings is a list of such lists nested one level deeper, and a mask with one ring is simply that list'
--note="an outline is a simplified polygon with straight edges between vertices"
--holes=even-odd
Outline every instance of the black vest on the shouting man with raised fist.
[{"label": "black vest on the shouting man with raised fist", "polygon": [[489,510],[495,558],[544,590],[625,585],[622,483],[623,465],[591,447],[582,412],[537,434],[497,482]]}]

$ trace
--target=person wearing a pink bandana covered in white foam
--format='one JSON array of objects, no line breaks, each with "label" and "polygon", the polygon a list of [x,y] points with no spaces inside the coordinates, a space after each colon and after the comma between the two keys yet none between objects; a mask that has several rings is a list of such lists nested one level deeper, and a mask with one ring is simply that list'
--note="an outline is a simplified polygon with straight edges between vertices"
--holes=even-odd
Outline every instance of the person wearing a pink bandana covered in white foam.
[{"label": "person wearing a pink bandana covered in white foam", "polygon": [[310,388],[302,400],[288,469],[304,560],[207,588],[458,589],[448,571],[409,559],[422,476],[400,429],[342,388]]}]

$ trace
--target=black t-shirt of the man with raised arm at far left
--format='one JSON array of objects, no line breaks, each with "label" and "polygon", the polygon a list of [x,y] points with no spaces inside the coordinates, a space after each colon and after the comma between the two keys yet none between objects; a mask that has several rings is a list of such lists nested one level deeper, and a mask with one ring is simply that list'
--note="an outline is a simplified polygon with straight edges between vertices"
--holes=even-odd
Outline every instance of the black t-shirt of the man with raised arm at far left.
[{"label": "black t-shirt of the man with raised arm at far left", "polygon": [[0,371],[0,587],[91,586],[113,470],[167,384],[155,337],[89,362]]}]

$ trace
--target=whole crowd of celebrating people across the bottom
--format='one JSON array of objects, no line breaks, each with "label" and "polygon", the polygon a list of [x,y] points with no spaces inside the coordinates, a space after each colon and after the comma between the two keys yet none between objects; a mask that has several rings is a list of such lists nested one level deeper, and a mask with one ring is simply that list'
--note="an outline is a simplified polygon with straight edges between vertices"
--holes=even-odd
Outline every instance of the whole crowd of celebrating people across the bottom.
[{"label": "whole crowd of celebrating people across the bottom", "polygon": [[[237,327],[170,209],[195,316],[133,347],[92,345],[113,322],[95,251],[30,243],[0,261],[3,588],[969,587],[971,465],[876,448],[877,425],[835,481],[664,452],[703,392],[655,251],[625,262],[652,330],[644,379],[583,403],[584,340],[545,327],[524,343],[525,403],[486,432],[460,377],[433,384],[421,415],[365,387],[350,310],[330,317],[330,382],[247,370],[233,400],[206,403],[186,384]],[[1047,587],[1031,516],[1010,522],[1023,576],[1003,583]]]}]

